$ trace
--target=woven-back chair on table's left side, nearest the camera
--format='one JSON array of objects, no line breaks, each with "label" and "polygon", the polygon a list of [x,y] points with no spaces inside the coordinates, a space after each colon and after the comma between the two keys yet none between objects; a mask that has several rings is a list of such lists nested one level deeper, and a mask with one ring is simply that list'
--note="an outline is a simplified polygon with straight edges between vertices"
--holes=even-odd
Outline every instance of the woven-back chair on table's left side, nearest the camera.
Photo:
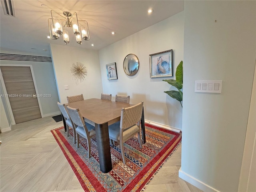
[{"label": "woven-back chair on table's left side, nearest the camera", "polygon": [[91,140],[90,138],[96,135],[95,127],[84,122],[84,119],[79,111],[79,109],[74,109],[67,106],[68,113],[72,119],[74,126],[76,128],[76,147],[79,147],[79,136],[82,136],[87,140],[88,147],[88,158],[91,157]]}]

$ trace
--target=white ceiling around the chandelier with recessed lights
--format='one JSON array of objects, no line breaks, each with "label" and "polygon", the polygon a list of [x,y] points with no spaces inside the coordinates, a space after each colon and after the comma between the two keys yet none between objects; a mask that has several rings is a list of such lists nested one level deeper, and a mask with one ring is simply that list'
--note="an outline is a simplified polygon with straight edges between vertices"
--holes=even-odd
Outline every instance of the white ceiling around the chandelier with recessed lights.
[{"label": "white ceiling around the chandelier with recessed lights", "polygon": [[[148,8],[154,10],[150,15],[147,14]],[[184,1],[15,0],[14,10],[16,17],[6,16],[1,4],[1,50],[17,50],[50,56],[50,43],[65,45],[62,36],[58,40],[46,38],[49,35],[50,10],[55,10],[60,14],[64,11],[77,12],[78,20],[88,22],[91,39],[82,40],[82,45],[79,45],[70,29],[70,43],[65,46],[100,50],[181,12],[184,10]],[[112,35],[112,31],[116,34]]]}]

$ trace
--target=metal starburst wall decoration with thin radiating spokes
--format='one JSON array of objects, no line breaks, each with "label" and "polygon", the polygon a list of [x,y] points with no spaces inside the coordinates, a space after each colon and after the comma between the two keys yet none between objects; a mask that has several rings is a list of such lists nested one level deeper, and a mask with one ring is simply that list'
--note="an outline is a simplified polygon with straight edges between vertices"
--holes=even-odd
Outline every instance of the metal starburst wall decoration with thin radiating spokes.
[{"label": "metal starburst wall decoration with thin radiating spokes", "polygon": [[87,76],[87,70],[84,64],[80,62],[76,62],[76,64],[72,64],[71,68],[71,74],[76,80],[76,85],[78,85],[78,81],[80,80],[80,83],[85,80],[85,76]]}]

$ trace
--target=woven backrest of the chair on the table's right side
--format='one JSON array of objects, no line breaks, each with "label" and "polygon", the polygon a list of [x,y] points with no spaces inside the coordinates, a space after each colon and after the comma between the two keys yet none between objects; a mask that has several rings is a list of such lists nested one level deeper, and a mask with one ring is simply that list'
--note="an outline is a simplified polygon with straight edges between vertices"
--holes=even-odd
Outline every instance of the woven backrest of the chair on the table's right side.
[{"label": "woven backrest of the chair on the table's right side", "polygon": [[122,108],[120,128],[124,130],[134,124],[137,124],[141,120],[142,108],[143,101],[134,106]]}]

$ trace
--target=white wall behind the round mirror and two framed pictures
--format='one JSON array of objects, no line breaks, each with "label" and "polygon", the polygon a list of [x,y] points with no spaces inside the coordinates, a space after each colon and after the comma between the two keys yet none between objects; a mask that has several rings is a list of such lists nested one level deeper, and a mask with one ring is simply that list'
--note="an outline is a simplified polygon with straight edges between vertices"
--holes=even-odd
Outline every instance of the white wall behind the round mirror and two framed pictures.
[{"label": "white wall behind the round mirror and two framed pictures", "polygon": [[[176,67],[183,59],[184,12],[150,26],[99,51],[103,92],[130,95],[130,103],[144,101],[145,119],[173,128],[182,128],[182,107],[164,91],[171,86],[163,79],[175,79]],[[174,77],[150,78],[149,55],[173,50]],[[123,70],[126,55],[135,54],[140,67],[134,76]],[[108,80],[106,64],[116,62],[117,80]]]}]

